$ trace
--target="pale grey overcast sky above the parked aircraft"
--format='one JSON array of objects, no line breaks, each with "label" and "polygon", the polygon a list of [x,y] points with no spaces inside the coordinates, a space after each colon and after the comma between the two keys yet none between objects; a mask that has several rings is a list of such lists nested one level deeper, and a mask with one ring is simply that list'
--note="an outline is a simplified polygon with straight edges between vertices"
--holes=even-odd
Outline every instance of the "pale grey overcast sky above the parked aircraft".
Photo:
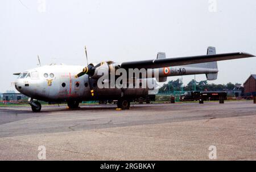
[{"label": "pale grey overcast sky above the parked aircraft", "polygon": [[[256,1],[3,0],[0,45],[0,92],[15,89],[12,74],[36,67],[37,54],[44,65],[86,65],[84,45],[89,62],[203,55],[208,46],[256,55]],[[255,66],[256,58],[218,62],[209,83],[243,83]]]}]

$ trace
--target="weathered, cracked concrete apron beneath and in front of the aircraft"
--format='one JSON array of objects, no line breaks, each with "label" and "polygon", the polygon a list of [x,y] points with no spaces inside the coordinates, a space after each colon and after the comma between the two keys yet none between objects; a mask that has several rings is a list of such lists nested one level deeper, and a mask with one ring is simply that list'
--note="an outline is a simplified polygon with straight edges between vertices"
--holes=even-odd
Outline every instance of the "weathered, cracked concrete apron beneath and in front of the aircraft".
[{"label": "weathered, cracked concrete apron beneath and in front of the aircraft", "polygon": [[[150,104],[0,108],[0,160],[256,160],[256,105]],[[18,115],[15,115],[18,114]]]}]

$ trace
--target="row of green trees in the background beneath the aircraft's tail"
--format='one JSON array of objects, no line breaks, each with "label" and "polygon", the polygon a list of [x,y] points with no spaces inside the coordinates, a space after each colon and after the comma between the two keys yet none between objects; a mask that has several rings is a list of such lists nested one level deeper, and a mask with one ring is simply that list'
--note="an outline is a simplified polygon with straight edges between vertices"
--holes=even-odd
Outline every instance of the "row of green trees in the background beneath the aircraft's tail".
[{"label": "row of green trees in the background beneath the aircraft's tail", "polygon": [[[236,83],[237,84],[237,83]],[[159,91],[221,91],[224,89],[234,89],[235,84],[208,84],[207,80],[196,81],[192,79],[189,81],[188,85],[183,86],[183,83],[180,79],[168,81],[168,83],[163,84]]]}]

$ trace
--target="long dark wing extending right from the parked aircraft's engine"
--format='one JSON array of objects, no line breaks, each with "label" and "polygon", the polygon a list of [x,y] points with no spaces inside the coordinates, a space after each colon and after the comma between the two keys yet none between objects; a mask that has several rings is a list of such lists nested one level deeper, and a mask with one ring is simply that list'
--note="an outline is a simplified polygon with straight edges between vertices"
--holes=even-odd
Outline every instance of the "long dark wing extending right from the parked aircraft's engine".
[{"label": "long dark wing extending right from the parked aircraft's engine", "polygon": [[119,68],[160,68],[167,66],[182,66],[194,63],[205,63],[214,61],[225,61],[229,59],[247,58],[254,57],[248,53],[225,53],[225,54],[211,54],[211,55],[197,55],[189,57],[176,57],[176,58],[163,58],[153,59],[146,61],[133,61],[123,62],[118,65]]}]

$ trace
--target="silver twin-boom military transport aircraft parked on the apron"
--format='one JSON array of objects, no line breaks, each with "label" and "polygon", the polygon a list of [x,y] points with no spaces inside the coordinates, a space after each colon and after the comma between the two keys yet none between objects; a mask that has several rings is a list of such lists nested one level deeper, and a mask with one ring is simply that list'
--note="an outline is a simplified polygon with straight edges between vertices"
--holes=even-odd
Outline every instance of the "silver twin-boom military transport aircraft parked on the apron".
[{"label": "silver twin-boom military transport aircraft parked on the apron", "polygon": [[[118,100],[118,108],[129,109],[130,101],[139,97],[147,97],[149,94],[152,94],[149,91],[154,93],[154,90],[158,88],[157,81],[164,82],[167,80],[167,76],[206,74],[208,80],[216,80],[218,73],[217,61],[247,57],[254,57],[254,55],[242,52],[216,54],[214,47],[208,47],[207,55],[192,57],[166,58],[165,53],[158,53],[156,59],[146,61],[122,63],[106,61],[98,64],[90,63],[86,67],[47,65],[14,74],[19,75],[15,81],[15,88],[20,93],[30,97],[28,104],[31,105],[34,112],[41,110],[42,106],[38,100],[67,102],[70,109],[78,108],[81,101]],[[122,83],[120,81],[120,87],[118,87],[118,84],[115,84],[114,87],[100,88],[98,85],[100,79],[102,84],[111,84],[109,78],[101,78],[104,74],[104,72],[100,72],[102,69],[107,71],[108,74],[114,71],[115,77],[121,75],[120,72],[119,74],[115,72],[118,69],[125,71],[145,69],[147,72],[152,71],[152,75],[146,75],[146,77],[142,77],[141,74],[137,75],[137,77],[132,75],[130,78],[126,76],[129,84],[130,81],[133,86],[139,83],[138,87],[130,87],[129,85],[126,88],[123,87],[123,84],[127,84],[127,82]],[[141,83],[144,80],[150,80],[150,82],[146,84],[145,88],[142,88]]]}]

